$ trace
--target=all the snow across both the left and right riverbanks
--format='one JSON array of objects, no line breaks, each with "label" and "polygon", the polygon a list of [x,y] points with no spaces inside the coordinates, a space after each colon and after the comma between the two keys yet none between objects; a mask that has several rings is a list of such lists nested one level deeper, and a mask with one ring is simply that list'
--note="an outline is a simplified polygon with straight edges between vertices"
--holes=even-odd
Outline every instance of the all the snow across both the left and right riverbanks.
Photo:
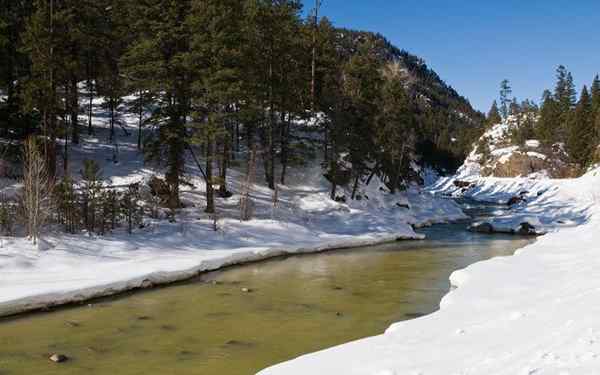
[{"label": "all the snow across both the left and right riverbanks", "polygon": [[[105,127],[102,120],[95,119],[97,127]],[[144,181],[155,173],[135,148],[134,120],[125,120],[132,134],[119,136],[119,162],[111,161],[115,146],[106,143],[106,129],[99,129],[74,150],[74,174],[85,158],[100,162],[105,174],[113,176],[113,184]],[[504,128],[498,126],[490,135],[497,136]],[[502,148],[494,146],[491,151]],[[239,195],[220,199],[217,231],[202,213],[203,182],[194,177],[190,165],[193,186],[183,191],[188,208],[176,223],[148,221],[132,236],[123,231],[104,237],[56,231],[45,236],[39,248],[22,238],[0,238],[0,315],[172,282],[287,253],[421,238],[411,225],[464,218],[452,200],[433,193],[497,203],[522,196],[526,201],[497,217],[494,226],[515,228],[529,222],[547,234],[512,257],[454,272],[450,282],[455,288],[442,299],[439,311],[260,374],[598,373],[600,170],[572,180],[482,178],[476,161],[473,152],[455,177],[438,180],[428,191],[411,187],[391,195],[375,179],[361,187],[362,200],[349,204],[329,199],[315,161],[292,168],[276,207],[268,189],[253,186],[256,213],[249,222],[236,219]],[[456,187],[457,179],[472,187]],[[239,192],[242,180],[242,171],[232,170],[230,189]],[[3,184],[16,189],[10,181]]]}]

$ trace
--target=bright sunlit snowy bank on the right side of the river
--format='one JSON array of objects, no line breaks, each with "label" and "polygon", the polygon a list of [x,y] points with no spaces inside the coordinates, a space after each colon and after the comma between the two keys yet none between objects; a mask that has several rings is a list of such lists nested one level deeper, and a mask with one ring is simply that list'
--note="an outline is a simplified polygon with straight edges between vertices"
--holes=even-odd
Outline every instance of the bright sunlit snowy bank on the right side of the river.
[{"label": "bright sunlit snowy bank on the right side of the river", "polygon": [[[504,220],[533,217],[550,233],[515,256],[453,273],[457,288],[434,314],[260,374],[600,373],[600,171],[572,180],[469,181],[464,195],[483,201],[527,191],[529,201]],[[460,190],[451,179],[432,189]]]}]

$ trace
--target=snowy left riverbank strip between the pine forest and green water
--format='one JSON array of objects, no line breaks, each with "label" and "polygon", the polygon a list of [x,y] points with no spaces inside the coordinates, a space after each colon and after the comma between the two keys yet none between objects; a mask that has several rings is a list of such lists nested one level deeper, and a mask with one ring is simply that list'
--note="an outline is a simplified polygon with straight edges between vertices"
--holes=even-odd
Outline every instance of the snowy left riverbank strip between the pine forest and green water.
[{"label": "snowy left riverbank strip between the pine forest and green water", "polygon": [[[44,251],[25,239],[0,239],[0,316],[285,254],[422,239],[412,225],[465,218],[453,202],[414,189],[350,207],[331,202],[322,191],[298,188],[283,190],[281,200],[273,209],[257,199],[256,219],[225,217],[216,232],[208,218],[195,219],[197,209],[190,209],[178,223],[154,223],[133,236],[48,236]],[[392,206],[392,200],[413,208]],[[274,219],[265,218],[269,215]]]}]

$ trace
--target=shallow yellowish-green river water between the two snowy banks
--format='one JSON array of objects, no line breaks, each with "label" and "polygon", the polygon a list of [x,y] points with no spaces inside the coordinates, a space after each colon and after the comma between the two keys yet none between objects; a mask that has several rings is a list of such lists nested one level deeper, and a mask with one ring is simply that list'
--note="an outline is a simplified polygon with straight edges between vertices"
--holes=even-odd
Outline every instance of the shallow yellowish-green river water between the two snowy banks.
[{"label": "shallow yellowish-green river water between the two snowy banks", "polygon": [[[0,320],[0,375],[246,375],[379,334],[435,311],[453,270],[531,241],[465,225],[424,230],[431,240],[277,259]],[[50,353],[71,360],[54,364]]]}]

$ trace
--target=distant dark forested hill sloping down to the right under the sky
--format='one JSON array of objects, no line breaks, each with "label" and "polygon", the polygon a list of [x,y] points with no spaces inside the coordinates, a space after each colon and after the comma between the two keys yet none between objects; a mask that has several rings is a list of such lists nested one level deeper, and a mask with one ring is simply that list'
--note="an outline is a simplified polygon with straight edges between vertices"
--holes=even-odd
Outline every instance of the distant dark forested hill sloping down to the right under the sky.
[{"label": "distant dark forested hill sloping down to the right under the sky", "polygon": [[485,115],[444,82],[425,61],[394,46],[379,33],[338,29],[341,53],[347,58],[360,45],[374,46],[382,64],[393,67],[402,77],[414,103],[417,117],[416,154],[421,164],[452,172],[471,151],[484,132]]}]

